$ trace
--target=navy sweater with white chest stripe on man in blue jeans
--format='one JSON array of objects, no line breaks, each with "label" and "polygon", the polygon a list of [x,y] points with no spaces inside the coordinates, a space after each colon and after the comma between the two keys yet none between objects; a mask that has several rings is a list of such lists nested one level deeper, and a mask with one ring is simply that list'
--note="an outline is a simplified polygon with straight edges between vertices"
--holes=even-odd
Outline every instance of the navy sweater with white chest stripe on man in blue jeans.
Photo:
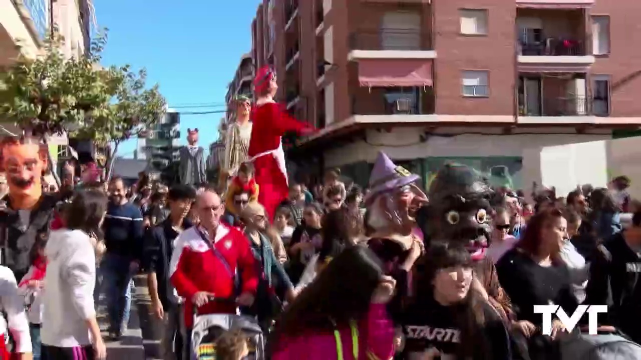
[{"label": "navy sweater with white chest stripe on man in blue jeans", "polygon": [[131,259],[142,258],[142,214],[134,204],[110,202],[104,216],[104,245],[107,254]]}]

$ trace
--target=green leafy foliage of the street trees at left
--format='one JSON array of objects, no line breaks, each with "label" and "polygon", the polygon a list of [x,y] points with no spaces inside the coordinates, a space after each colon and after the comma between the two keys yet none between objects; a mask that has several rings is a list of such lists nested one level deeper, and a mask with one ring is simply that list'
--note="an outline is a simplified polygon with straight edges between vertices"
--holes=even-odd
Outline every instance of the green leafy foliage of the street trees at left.
[{"label": "green leafy foliage of the street trees at left", "polygon": [[62,37],[46,40],[36,59],[21,56],[0,74],[0,117],[35,135],[69,132],[96,143],[137,136],[162,116],[158,86],[146,89],[146,72],[101,67],[106,29],[94,38],[88,56],[65,58]]}]

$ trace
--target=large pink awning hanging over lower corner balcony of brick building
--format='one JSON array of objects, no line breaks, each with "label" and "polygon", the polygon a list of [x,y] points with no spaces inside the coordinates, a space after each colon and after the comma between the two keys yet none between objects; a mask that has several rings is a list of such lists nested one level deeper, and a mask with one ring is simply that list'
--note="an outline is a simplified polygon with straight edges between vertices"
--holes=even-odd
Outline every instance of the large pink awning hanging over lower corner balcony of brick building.
[{"label": "large pink awning hanging over lower corner balcony of brick building", "polygon": [[360,59],[361,86],[432,86],[431,59]]}]

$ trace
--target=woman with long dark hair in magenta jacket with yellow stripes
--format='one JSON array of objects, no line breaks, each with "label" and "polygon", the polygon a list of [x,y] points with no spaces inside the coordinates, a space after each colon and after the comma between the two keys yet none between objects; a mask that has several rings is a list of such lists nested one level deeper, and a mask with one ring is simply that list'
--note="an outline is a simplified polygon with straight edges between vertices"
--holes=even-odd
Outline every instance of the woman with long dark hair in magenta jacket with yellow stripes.
[{"label": "woman with long dark hair in magenta jacket with yellow stripes", "polygon": [[343,250],[276,323],[272,359],[390,359],[394,328],[385,304],[394,286],[371,250]]}]

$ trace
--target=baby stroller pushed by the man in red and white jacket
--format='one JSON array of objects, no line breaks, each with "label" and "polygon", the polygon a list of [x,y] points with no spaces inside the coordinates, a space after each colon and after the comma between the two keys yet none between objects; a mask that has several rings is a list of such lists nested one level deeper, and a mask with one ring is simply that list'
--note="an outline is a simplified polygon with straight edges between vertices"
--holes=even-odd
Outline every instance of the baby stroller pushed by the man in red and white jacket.
[{"label": "baby stroller pushed by the man in red and white jacket", "polygon": [[[209,301],[236,303],[235,299],[217,299],[214,297],[211,297]],[[194,307],[194,326],[192,328],[189,360],[216,360],[216,340],[225,331],[235,329],[242,330],[249,338],[249,343],[247,344],[249,355],[245,357],[246,360],[266,359],[265,338],[255,318],[233,314],[196,315],[196,307]]]}]

